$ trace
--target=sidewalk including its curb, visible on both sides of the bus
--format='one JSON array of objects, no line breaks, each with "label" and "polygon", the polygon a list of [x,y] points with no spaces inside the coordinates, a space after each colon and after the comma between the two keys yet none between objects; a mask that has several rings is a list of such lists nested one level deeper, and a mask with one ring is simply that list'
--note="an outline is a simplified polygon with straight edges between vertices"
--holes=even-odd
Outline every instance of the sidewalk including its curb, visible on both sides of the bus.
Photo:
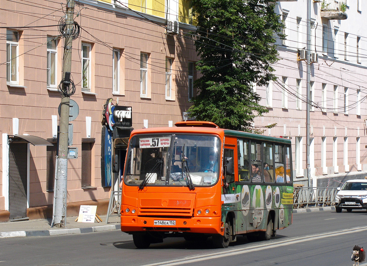
[{"label": "sidewalk including its curb, visible on both sides of the bus", "polygon": [[[293,213],[306,213],[318,211],[335,211],[334,206],[293,209]],[[102,222],[81,223],[75,221],[76,217],[66,219],[66,228],[51,228],[51,219],[29,221],[14,221],[0,223],[0,238],[8,237],[33,237],[65,234],[83,234],[110,230],[121,230],[120,217],[110,216],[106,224],[106,216],[101,215]]]}]

